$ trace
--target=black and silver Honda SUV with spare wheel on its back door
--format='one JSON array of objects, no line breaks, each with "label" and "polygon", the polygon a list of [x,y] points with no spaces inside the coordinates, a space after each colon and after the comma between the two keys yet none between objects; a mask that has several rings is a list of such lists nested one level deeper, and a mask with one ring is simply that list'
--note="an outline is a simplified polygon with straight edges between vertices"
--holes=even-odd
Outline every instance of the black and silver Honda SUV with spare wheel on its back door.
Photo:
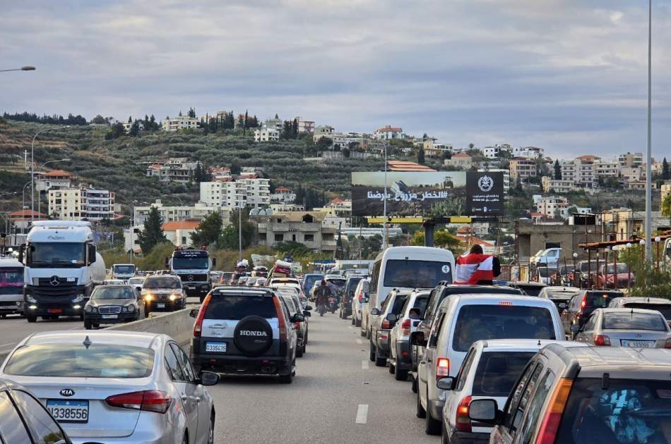
[{"label": "black and silver Honda SUV with spare wheel on its back door", "polygon": [[200,309],[191,310],[194,338],[191,362],[198,371],[229,375],[274,375],[291,383],[296,372],[297,334],[271,288],[217,287]]}]

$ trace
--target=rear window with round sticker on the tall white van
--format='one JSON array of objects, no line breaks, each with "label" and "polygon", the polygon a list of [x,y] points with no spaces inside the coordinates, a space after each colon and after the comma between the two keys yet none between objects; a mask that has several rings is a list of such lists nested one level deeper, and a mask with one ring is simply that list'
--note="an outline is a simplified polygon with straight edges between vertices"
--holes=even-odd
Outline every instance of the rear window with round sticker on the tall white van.
[{"label": "rear window with round sticker on the tall white van", "polygon": [[452,282],[447,262],[388,260],[384,271],[385,287],[434,288],[441,280]]}]

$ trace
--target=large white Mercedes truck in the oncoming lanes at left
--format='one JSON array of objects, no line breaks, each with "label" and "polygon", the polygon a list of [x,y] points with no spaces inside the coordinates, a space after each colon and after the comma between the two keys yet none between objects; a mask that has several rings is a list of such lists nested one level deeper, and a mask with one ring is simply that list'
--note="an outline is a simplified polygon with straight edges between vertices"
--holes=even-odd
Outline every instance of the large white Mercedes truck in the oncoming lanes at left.
[{"label": "large white Mercedes truck in the oncoming lanes at left", "polygon": [[95,251],[86,221],[35,221],[21,245],[25,267],[23,312],[28,322],[79,316],[94,285],[105,280],[105,261]]}]

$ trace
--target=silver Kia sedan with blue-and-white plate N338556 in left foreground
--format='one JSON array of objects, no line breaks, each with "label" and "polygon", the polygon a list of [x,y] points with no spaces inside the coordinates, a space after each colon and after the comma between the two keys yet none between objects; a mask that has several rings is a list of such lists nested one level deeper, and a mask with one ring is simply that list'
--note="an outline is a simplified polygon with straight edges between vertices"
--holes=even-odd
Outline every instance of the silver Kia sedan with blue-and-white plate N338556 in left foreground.
[{"label": "silver Kia sedan with blue-and-white plate N338556 in left foreground", "polygon": [[215,410],[189,358],[167,335],[49,331],[24,339],[0,368],[29,388],[75,444],[213,443]]}]

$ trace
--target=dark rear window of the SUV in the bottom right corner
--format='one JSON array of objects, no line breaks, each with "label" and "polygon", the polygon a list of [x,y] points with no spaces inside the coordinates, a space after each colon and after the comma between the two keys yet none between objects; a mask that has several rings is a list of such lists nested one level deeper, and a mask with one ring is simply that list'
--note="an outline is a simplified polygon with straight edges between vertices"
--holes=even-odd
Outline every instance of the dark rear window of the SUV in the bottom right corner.
[{"label": "dark rear window of the SUV in the bottom right corner", "polygon": [[671,381],[578,378],[557,443],[671,443]]}]

